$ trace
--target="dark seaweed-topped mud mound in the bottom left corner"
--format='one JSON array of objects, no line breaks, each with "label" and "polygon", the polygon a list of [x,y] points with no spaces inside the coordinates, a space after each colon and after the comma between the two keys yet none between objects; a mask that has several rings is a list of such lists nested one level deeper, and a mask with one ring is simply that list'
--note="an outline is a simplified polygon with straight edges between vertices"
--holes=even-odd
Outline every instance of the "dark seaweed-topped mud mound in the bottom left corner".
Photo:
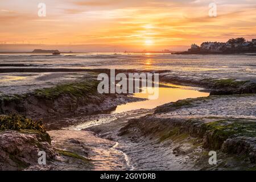
[{"label": "dark seaweed-topped mud mound in the bottom left corner", "polygon": [[50,141],[36,131],[0,131],[0,170],[38,165],[39,151],[46,152],[48,161],[56,157]]}]

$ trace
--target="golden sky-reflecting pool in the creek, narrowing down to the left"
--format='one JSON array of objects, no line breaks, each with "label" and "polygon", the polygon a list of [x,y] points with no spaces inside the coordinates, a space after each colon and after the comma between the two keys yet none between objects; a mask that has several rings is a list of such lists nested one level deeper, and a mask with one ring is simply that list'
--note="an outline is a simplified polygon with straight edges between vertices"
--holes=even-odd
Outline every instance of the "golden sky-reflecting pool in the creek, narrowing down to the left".
[{"label": "golden sky-reflecting pool in the creek, narrowing down to the left", "polygon": [[[146,88],[142,88],[146,89]],[[82,130],[88,127],[102,125],[115,121],[119,118],[132,119],[135,115],[151,113],[155,107],[169,102],[175,102],[186,98],[197,98],[197,97],[208,97],[209,93],[200,92],[201,88],[174,84],[159,84],[159,97],[156,100],[148,100],[148,93],[135,93],[131,97],[144,98],[144,101],[130,102],[123,105],[118,105],[115,110],[107,114],[88,115],[82,118],[70,118],[72,123],[76,121],[75,125],[64,127],[63,129],[68,130]],[[144,110],[139,110],[144,109]],[[148,110],[150,109],[150,110]],[[129,120],[127,119],[126,120]]]}]

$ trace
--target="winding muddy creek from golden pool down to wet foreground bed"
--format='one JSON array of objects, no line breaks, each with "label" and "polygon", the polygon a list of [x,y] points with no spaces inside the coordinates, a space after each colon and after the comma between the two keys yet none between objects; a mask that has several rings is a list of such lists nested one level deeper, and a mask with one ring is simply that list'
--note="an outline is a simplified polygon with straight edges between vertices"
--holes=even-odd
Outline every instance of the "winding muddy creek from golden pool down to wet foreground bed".
[{"label": "winding muddy creek from golden pool down to wet foreground bed", "polygon": [[[152,143],[145,138],[133,142],[130,138],[119,136],[119,130],[130,119],[153,113],[154,108],[159,105],[186,98],[209,96],[209,93],[200,90],[191,86],[163,84],[159,87],[159,97],[156,100],[119,105],[107,114],[67,118],[65,122],[76,124],[49,131],[53,146],[62,150],[80,150],[77,147],[72,148],[73,144],[65,146],[67,140],[79,140],[88,149],[89,155],[83,156],[92,160],[93,170],[191,169],[192,164],[184,163],[184,158],[177,158],[168,146]],[[148,98],[148,95],[135,93],[133,97]],[[81,154],[80,151],[77,153]]]}]

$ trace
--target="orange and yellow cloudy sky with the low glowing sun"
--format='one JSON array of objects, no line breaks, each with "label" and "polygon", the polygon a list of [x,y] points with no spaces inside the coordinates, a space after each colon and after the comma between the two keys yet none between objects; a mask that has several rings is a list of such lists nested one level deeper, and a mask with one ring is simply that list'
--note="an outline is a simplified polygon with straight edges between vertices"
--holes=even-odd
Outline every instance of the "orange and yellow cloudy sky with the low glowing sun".
[{"label": "orange and yellow cloudy sky with the low glowing sun", "polygon": [[[38,16],[40,2],[46,17]],[[211,2],[217,17],[208,15]],[[255,0],[1,0],[0,43],[171,49],[250,40],[256,38],[255,12]]]}]

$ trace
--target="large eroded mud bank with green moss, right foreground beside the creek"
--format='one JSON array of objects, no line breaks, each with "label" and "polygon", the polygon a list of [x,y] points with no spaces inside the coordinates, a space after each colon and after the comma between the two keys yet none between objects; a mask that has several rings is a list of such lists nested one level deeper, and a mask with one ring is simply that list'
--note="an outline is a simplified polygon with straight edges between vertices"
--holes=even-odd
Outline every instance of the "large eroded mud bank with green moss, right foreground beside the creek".
[{"label": "large eroded mud bank with green moss, right foreground beside the creek", "polygon": [[[154,147],[170,152],[168,156],[177,156],[171,160],[181,160],[180,167],[190,163],[193,165],[186,165],[189,169],[254,169],[256,102],[252,100],[255,95],[213,96],[166,104],[154,114],[131,119],[119,135],[138,145],[151,143],[153,148],[146,147],[147,154]],[[209,151],[217,152],[216,166],[208,163]]]}]

